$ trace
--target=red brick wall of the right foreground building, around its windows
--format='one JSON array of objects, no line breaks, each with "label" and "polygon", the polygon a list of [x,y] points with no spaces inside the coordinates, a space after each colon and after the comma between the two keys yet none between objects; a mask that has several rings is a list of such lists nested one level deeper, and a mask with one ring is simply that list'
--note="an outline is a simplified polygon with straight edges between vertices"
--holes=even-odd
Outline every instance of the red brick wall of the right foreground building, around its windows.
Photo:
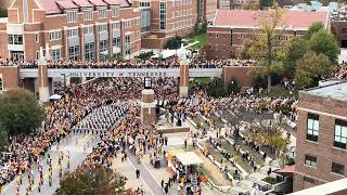
[{"label": "red brick wall of the right foreground building, around its windows", "polygon": [[[346,101],[299,92],[294,191],[343,179],[344,176],[332,172],[333,162],[344,166],[346,176],[347,151],[334,146],[335,119],[346,120]],[[308,114],[319,116],[317,142],[307,139]],[[317,166],[306,165],[305,155],[317,157]]]}]

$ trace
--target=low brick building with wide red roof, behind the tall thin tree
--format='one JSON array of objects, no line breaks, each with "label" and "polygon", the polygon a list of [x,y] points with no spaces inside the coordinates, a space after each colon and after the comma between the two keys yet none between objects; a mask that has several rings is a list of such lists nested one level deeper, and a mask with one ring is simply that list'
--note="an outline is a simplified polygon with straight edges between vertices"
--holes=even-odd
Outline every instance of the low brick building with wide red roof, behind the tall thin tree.
[{"label": "low brick building with wide red roof, behind the tall thin tree", "polygon": [[[243,40],[254,38],[261,21],[269,17],[271,11],[218,10],[213,24],[207,27],[208,58],[229,58],[235,56]],[[282,16],[284,27],[279,28],[279,40],[300,36],[314,22],[321,22],[330,28],[329,13],[285,11]]]}]

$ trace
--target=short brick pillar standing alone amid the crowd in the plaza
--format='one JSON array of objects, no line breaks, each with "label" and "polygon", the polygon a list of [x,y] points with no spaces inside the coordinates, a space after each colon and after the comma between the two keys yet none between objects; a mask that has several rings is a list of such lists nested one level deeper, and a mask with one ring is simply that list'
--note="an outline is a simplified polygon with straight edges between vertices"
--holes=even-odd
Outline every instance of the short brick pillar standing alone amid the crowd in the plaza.
[{"label": "short brick pillar standing alone amid the crowd in the plaza", "polygon": [[155,107],[154,90],[142,90],[141,123],[143,127],[151,126],[152,123],[156,122]]}]

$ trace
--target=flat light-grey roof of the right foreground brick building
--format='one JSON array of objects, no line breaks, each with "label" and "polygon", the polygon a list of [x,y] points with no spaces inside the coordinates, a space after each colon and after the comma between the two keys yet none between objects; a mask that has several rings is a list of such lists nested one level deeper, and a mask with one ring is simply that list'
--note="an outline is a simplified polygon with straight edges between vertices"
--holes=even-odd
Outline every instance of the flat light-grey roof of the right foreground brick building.
[{"label": "flat light-grey roof of the right foreground brick building", "polygon": [[307,90],[304,90],[303,92],[311,95],[322,96],[322,98],[347,101],[347,80],[343,80],[342,82],[332,82],[332,84],[323,84],[321,87],[307,89]]}]

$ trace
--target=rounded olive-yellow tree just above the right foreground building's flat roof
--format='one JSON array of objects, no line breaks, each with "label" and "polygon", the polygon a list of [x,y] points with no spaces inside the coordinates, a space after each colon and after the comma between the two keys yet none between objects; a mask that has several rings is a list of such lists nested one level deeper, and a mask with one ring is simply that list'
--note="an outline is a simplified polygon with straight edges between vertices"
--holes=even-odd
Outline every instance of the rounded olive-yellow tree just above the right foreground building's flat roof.
[{"label": "rounded olive-yellow tree just above the right foreground building's flat roof", "polygon": [[296,63],[295,82],[298,87],[318,86],[318,81],[331,76],[333,65],[322,53],[307,52]]}]

